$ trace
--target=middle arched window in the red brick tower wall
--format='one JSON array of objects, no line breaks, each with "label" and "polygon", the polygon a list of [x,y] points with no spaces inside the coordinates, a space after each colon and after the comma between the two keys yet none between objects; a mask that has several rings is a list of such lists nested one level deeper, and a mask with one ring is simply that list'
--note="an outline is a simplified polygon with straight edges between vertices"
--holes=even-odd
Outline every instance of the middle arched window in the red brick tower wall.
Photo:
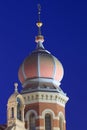
[{"label": "middle arched window in the red brick tower wall", "polygon": [[51,121],[51,115],[50,114],[46,114],[45,115],[45,130],[52,130],[51,123],[52,123],[52,121]]}]

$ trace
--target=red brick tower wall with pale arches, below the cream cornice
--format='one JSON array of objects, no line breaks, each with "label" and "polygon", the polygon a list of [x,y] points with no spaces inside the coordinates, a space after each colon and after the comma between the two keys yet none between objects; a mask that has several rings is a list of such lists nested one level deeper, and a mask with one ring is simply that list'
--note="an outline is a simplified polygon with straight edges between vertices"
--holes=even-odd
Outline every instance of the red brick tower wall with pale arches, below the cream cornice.
[{"label": "red brick tower wall with pale arches, below the cream cornice", "polygon": [[[63,113],[64,115],[64,123],[63,123],[63,130],[65,130],[65,108],[56,103],[32,103],[25,106],[25,115],[28,111],[34,110],[37,113],[36,117],[36,129],[42,130],[45,128],[45,114],[50,113],[52,116],[51,125],[52,130],[59,128],[59,112]],[[43,112],[45,113],[43,114]],[[53,113],[54,115],[53,115]],[[26,121],[26,128],[28,129],[28,121]]]}]

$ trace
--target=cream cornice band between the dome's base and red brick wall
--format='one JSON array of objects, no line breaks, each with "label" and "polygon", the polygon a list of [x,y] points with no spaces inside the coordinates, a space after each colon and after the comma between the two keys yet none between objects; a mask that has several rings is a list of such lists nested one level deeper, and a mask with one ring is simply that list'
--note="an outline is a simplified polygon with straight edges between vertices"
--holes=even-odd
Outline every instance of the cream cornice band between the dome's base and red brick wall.
[{"label": "cream cornice band between the dome's base and red brick wall", "polygon": [[48,92],[34,92],[27,93],[22,95],[25,100],[25,105],[32,103],[56,103],[63,107],[65,107],[66,102],[68,101],[68,97],[66,95],[62,95],[60,93],[48,93]]}]

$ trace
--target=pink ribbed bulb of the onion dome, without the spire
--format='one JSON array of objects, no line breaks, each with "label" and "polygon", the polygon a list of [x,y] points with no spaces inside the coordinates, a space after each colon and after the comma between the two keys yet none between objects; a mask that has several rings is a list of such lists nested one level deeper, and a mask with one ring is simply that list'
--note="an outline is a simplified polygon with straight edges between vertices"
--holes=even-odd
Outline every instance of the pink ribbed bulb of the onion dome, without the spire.
[{"label": "pink ribbed bulb of the onion dome, without the spire", "polygon": [[[63,66],[60,61],[43,48],[33,51],[19,68],[18,77],[22,84],[29,80],[51,79],[58,84],[63,78]],[[38,81],[39,82],[39,81]],[[25,86],[25,85],[24,85]]]}]

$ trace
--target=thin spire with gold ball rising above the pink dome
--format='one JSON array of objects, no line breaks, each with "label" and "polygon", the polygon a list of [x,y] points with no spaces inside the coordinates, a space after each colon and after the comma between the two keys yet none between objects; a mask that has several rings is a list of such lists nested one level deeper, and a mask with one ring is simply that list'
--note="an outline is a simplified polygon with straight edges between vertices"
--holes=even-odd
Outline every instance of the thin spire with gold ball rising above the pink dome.
[{"label": "thin spire with gold ball rising above the pink dome", "polygon": [[43,25],[43,23],[40,20],[40,14],[41,14],[41,5],[38,4],[38,22],[36,23],[37,27],[38,27],[38,35],[35,38],[35,42],[37,43],[37,49],[38,48],[43,48],[43,42],[44,42],[44,37],[41,35],[41,27]]}]

